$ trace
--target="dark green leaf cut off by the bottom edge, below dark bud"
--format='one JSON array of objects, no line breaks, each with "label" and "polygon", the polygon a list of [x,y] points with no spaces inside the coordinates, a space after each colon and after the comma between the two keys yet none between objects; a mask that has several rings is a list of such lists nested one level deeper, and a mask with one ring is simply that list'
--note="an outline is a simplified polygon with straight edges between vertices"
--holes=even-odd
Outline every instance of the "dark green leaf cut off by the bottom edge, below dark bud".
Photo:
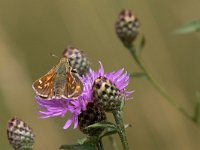
[{"label": "dark green leaf cut off by the bottom edge, below dark bud", "polygon": [[60,149],[67,149],[67,150],[96,150],[96,146],[93,144],[75,144],[75,145],[61,145]]}]

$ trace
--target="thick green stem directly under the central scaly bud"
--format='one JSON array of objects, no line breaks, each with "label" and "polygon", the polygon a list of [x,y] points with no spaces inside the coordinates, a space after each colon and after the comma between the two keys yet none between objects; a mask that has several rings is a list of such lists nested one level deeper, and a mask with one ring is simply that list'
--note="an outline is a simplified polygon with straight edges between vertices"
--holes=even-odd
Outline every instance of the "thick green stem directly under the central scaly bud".
[{"label": "thick green stem directly under the central scaly bud", "polygon": [[126,138],[124,122],[123,122],[121,111],[115,110],[112,113],[115,118],[116,126],[118,129],[118,134],[119,134],[120,140],[122,142],[123,148],[124,148],[124,150],[128,150],[129,149],[128,141]]}]

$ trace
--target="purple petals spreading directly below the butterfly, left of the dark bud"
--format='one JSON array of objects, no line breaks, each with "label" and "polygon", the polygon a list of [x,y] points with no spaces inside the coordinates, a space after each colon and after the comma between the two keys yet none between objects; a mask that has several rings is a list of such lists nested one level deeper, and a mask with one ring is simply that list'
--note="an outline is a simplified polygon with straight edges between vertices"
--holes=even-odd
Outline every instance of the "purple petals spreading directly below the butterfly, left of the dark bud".
[{"label": "purple petals spreading directly below the butterfly, left of the dark bud", "polygon": [[83,96],[80,95],[77,99],[52,99],[45,100],[39,96],[35,97],[38,104],[40,105],[41,118],[49,118],[55,116],[64,117],[66,113],[70,112],[72,115],[64,125],[64,129],[69,128],[69,126],[74,123],[74,128],[77,128],[78,125],[78,115],[82,110],[86,110],[86,106],[89,102],[83,99]]}]

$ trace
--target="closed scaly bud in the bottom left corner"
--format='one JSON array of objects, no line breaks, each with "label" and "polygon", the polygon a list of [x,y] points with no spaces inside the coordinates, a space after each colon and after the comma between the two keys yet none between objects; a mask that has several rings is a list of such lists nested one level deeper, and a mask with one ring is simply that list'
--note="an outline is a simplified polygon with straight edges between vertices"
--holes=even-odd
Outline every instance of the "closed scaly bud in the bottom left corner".
[{"label": "closed scaly bud in the bottom left corner", "polygon": [[35,137],[33,130],[21,119],[13,117],[9,120],[7,136],[15,150],[31,149],[33,147]]}]

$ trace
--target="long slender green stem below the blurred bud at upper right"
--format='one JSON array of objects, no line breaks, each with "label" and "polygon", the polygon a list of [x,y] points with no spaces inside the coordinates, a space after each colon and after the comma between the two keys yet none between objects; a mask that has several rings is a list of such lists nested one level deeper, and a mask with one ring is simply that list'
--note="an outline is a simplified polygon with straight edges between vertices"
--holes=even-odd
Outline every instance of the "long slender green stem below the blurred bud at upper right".
[{"label": "long slender green stem below the blurred bud at upper right", "polygon": [[[126,45],[125,45],[126,46]],[[163,96],[166,98],[166,100],[174,106],[179,112],[181,112],[185,117],[187,117],[190,120],[193,120],[193,116],[188,114],[181,106],[179,106],[176,101],[168,95],[168,93],[165,91],[165,89],[153,78],[153,76],[148,71],[147,67],[145,66],[142,58],[140,55],[137,55],[137,50],[133,45],[126,46],[126,48],[130,51],[132,57],[135,59],[138,66],[141,68],[141,70],[146,75],[146,78],[149,80],[149,82],[154,86],[154,88]]]}]

